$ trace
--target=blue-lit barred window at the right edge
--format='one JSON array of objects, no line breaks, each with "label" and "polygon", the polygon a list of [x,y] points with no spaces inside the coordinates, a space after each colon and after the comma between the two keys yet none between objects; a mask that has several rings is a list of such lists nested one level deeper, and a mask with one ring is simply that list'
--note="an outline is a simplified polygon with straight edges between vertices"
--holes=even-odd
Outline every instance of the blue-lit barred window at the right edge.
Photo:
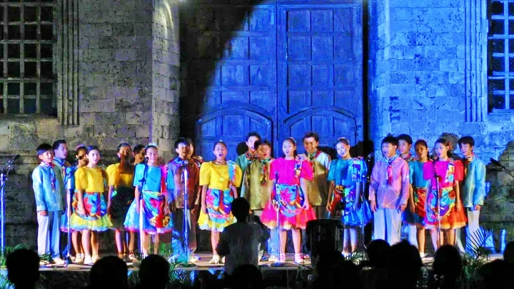
[{"label": "blue-lit barred window at the right edge", "polygon": [[514,0],[488,1],[489,111],[514,110]]}]

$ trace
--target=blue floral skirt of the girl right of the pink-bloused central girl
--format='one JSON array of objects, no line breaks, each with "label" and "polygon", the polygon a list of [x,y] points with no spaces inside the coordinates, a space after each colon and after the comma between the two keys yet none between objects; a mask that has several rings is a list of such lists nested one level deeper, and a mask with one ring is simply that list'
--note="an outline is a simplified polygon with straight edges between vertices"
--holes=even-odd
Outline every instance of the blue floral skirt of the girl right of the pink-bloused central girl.
[{"label": "blue floral skirt of the girl right of the pink-bloused central girl", "polygon": [[[336,187],[337,189],[337,187]],[[356,202],[356,189],[353,187],[344,188],[343,191],[336,191],[334,193],[339,193],[344,196],[344,202],[346,205],[344,206],[343,216],[341,220],[345,225],[358,226],[361,227],[362,222],[364,225],[373,220],[373,213],[371,212],[371,206],[367,200],[364,200],[361,203],[361,207],[357,210],[353,210],[353,205]]]}]

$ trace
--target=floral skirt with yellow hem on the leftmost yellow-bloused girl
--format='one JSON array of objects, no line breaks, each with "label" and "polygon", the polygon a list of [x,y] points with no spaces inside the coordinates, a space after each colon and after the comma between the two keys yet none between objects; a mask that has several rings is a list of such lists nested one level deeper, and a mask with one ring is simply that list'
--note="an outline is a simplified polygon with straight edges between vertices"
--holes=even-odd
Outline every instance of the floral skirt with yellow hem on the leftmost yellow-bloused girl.
[{"label": "floral skirt with yellow hem on the leftmost yellow-bloused girl", "polygon": [[[84,215],[76,211],[71,215],[71,230],[103,232],[113,225],[107,216],[107,204],[103,193],[84,193]],[[74,202],[75,203],[75,202]]]}]

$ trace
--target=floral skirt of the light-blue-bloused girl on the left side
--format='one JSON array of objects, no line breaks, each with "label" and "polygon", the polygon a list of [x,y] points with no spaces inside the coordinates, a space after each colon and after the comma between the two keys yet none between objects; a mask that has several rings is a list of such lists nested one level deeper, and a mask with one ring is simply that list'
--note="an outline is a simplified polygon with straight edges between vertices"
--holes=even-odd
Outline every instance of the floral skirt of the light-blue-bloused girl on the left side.
[{"label": "floral skirt of the light-blue-bloused girl on the left side", "polygon": [[[137,203],[132,202],[124,222],[126,230],[139,232],[139,213]],[[173,230],[169,215],[164,214],[166,198],[161,192],[142,191],[141,205],[143,206],[143,231],[147,234],[168,233]]]}]

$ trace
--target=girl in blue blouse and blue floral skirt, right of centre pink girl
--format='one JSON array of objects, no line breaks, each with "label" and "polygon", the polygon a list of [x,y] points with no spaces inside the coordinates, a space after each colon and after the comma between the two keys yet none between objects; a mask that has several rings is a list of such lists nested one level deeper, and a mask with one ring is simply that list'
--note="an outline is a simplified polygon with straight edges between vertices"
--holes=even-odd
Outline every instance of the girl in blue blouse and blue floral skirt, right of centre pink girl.
[{"label": "girl in blue blouse and blue floral skirt, right of centre pink girl", "polygon": [[341,217],[345,225],[343,255],[349,255],[357,250],[357,228],[362,223],[366,225],[373,218],[366,198],[361,203],[361,183],[367,176],[368,168],[366,162],[351,157],[350,143],[346,138],[338,139],[336,150],[340,158],[331,162],[328,171],[330,188],[326,209],[332,216],[340,203],[344,205]]}]

